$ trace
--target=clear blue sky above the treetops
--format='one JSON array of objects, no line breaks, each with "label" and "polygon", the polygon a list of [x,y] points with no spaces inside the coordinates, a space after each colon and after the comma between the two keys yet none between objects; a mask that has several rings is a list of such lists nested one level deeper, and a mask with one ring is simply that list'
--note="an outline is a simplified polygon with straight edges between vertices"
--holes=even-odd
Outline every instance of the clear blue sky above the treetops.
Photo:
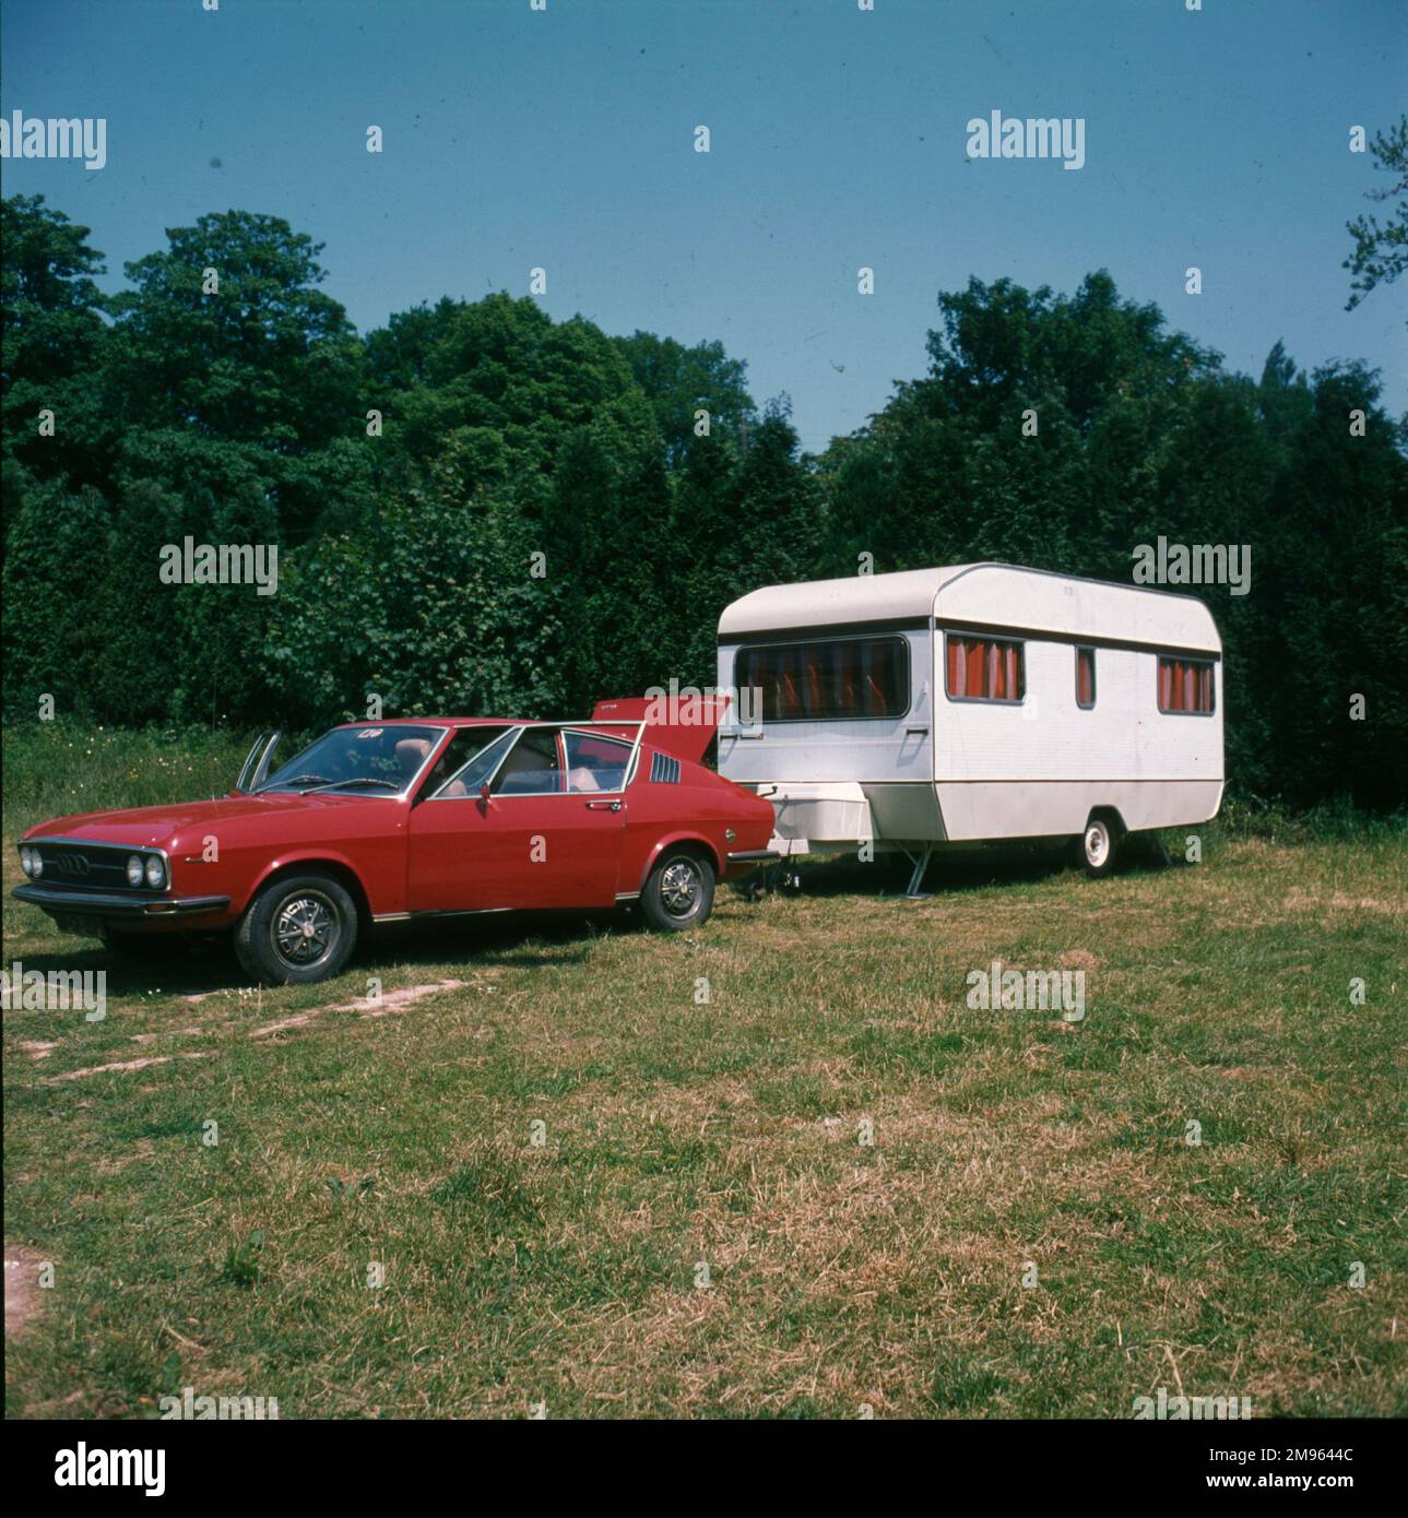
[{"label": "clear blue sky above the treetops", "polygon": [[[229,208],[325,243],[361,331],[542,266],[554,317],[717,337],[820,448],[923,372],[940,290],[1104,266],[1232,367],[1283,339],[1408,407],[1408,282],[1346,313],[1340,267],[1384,178],[1349,129],[1408,103],[1400,0],[6,0],[0,61],[6,114],[108,118],[102,172],[3,179],[109,287]],[[971,161],[993,109],[1083,117],[1084,167]]]}]

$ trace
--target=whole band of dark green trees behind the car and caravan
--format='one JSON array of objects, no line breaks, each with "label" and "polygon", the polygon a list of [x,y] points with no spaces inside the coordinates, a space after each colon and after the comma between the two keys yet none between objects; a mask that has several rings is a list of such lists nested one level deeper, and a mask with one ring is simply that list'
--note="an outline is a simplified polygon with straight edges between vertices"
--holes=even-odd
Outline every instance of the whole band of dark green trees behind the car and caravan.
[{"label": "whole band of dark green trees behind the car and caravan", "polygon": [[[6,200],[3,231],[9,716],[44,694],[91,723],[308,729],[372,694],[571,715],[712,683],[718,613],[759,584],[861,556],[1127,581],[1163,534],[1253,550],[1252,595],[1201,591],[1233,792],[1397,800],[1408,468],[1359,364],[1306,375],[1277,343],[1253,381],[1106,272],[1071,296],[974,279],[939,298],[928,372],[803,458],[787,399],[758,408],[717,342],[506,293],[358,340],[322,249],[245,211],[170,229],[112,299],[43,199]],[[276,546],[278,594],[159,583],[187,536]]]}]

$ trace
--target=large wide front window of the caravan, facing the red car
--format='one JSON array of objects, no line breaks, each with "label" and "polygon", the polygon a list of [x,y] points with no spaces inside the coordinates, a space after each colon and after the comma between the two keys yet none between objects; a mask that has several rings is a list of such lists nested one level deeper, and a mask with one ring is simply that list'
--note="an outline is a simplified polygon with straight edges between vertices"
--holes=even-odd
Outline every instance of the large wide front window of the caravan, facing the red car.
[{"label": "large wide front window of the caravan, facing the red car", "polygon": [[734,683],[762,692],[764,723],[904,716],[910,706],[910,645],[902,638],[835,638],[740,648]]}]

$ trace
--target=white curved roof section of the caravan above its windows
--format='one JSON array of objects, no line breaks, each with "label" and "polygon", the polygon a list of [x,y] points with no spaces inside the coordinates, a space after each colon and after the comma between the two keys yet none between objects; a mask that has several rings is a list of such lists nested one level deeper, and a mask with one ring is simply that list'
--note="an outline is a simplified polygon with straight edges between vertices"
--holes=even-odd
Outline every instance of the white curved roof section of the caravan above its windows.
[{"label": "white curved roof section of the caravan above its windows", "polygon": [[1001,563],[764,586],[725,607],[718,639],[822,627],[860,631],[875,622],[928,627],[934,616],[948,625],[1012,627],[1201,653],[1223,648],[1212,613],[1195,597]]}]

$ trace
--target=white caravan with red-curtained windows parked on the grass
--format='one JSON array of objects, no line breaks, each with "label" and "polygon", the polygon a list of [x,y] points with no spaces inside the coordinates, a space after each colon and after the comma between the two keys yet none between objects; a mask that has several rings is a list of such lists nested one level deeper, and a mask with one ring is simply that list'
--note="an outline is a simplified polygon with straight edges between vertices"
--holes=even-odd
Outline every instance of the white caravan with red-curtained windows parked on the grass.
[{"label": "white caravan with red-curtained windows parked on the grass", "polygon": [[901,849],[911,893],[975,839],[1078,836],[1104,874],[1217,815],[1221,653],[1194,597],[1013,565],[767,586],[718,621],[718,770],[779,853]]}]

